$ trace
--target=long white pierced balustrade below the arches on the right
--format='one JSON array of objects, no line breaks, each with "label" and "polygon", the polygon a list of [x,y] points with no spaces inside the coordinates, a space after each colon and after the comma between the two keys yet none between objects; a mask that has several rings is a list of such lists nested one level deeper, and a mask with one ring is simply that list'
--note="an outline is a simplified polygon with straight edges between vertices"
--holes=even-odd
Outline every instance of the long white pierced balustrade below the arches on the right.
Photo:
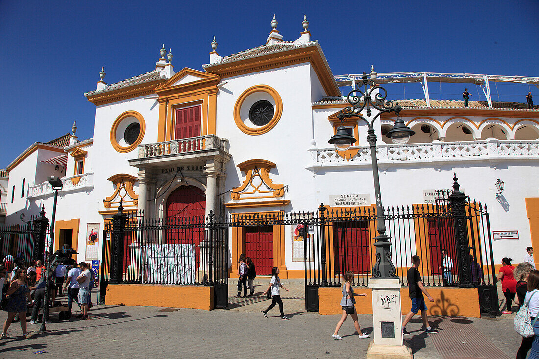
[{"label": "long white pierced balustrade below the arches on the right", "polygon": [[[335,149],[309,149],[312,163],[306,168],[316,171],[331,167],[371,167],[369,147],[353,146],[347,151],[356,154],[345,158]],[[405,145],[379,144],[377,146],[379,168],[383,171],[392,164],[429,163],[434,167],[453,161],[486,161],[490,165],[505,160],[539,161],[539,140],[496,140],[409,143]]]}]

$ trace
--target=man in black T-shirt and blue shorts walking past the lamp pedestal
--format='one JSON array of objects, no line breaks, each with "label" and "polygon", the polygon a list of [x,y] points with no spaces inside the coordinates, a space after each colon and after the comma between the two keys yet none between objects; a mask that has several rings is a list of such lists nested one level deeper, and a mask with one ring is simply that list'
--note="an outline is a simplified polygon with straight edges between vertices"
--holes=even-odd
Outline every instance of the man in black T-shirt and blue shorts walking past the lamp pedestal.
[{"label": "man in black T-shirt and blue shorts walking past the lamp pedestal", "polygon": [[425,304],[425,298],[423,298],[423,293],[429,298],[431,302],[434,301],[432,296],[427,292],[425,287],[423,286],[423,283],[421,282],[421,275],[419,274],[419,271],[417,268],[419,267],[419,264],[421,263],[421,259],[419,259],[419,256],[412,256],[412,267],[408,270],[407,278],[408,278],[408,291],[410,293],[410,299],[412,300],[412,309],[410,309],[410,313],[406,314],[406,317],[403,321],[403,334],[409,335],[410,333],[406,330],[406,324],[412,319],[414,315],[421,310],[421,317],[423,318],[423,322],[425,323],[425,333],[431,334],[431,333],[438,333],[438,330],[431,328],[429,325],[429,320],[427,319],[427,305]]}]

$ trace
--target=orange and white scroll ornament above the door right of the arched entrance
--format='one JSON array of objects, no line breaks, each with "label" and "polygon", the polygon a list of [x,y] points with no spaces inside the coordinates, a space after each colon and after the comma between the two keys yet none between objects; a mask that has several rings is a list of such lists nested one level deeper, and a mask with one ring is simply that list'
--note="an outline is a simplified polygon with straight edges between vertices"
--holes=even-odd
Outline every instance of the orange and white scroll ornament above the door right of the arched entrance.
[{"label": "orange and white scroll ornament above the door right of the arched entrance", "polygon": [[266,160],[248,160],[237,165],[245,173],[245,180],[239,187],[232,189],[231,198],[241,199],[279,198],[285,195],[288,186],[274,184],[269,171],[275,163]]}]

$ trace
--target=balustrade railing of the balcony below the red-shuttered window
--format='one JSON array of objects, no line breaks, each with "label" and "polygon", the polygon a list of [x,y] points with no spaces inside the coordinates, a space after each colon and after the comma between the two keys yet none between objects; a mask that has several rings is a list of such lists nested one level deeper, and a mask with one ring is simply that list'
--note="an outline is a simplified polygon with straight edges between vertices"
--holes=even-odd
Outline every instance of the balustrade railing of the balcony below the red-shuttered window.
[{"label": "balustrade railing of the balcony below the red-shuttered window", "polygon": [[156,143],[141,144],[139,158],[188,154],[210,149],[228,151],[225,139],[215,135],[190,137],[188,139],[170,140]]}]

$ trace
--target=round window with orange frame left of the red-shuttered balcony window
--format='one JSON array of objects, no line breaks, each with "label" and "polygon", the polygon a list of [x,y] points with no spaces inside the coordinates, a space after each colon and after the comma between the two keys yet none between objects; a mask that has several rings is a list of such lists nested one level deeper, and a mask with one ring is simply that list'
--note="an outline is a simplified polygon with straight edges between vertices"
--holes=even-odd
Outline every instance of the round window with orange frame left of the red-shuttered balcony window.
[{"label": "round window with orange frame left of the red-shuttered balcony window", "polygon": [[119,153],[128,153],[142,142],[144,118],[136,111],[126,111],[114,121],[110,129],[110,144]]}]

